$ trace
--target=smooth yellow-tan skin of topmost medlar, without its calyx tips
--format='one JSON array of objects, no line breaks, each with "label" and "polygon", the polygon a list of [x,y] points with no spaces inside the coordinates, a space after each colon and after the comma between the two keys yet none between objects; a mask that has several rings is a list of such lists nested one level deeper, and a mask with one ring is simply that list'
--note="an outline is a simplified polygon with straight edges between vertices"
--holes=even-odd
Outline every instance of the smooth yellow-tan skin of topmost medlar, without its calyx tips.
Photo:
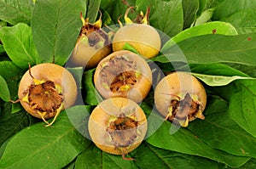
[{"label": "smooth yellow-tan skin of topmost medlar, without its calyx tips", "polygon": [[145,24],[121,27],[113,36],[113,51],[122,50],[126,42],[147,59],[156,56],[161,46],[159,33],[154,27]]}]

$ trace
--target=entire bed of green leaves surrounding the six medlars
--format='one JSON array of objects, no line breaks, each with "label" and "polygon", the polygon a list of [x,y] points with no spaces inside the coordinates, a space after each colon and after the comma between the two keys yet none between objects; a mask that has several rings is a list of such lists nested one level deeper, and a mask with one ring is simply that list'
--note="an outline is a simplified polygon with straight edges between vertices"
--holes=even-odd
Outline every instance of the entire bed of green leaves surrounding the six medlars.
[{"label": "entire bed of green leaves surrounding the six medlars", "polygon": [[[153,109],[152,90],[140,104],[148,137],[129,154],[136,161],[104,153],[88,139],[86,122],[99,99],[93,69],[70,69],[85,105],[62,111],[52,127],[9,102],[28,63],[67,63],[80,12],[94,22],[101,10],[103,23],[113,25],[128,6],[136,7],[131,18],[150,6],[150,25],[166,34],[148,64],[191,71],[208,99],[204,121],[171,134],[172,124]],[[0,168],[255,168],[255,8],[256,0],[0,1]]]}]

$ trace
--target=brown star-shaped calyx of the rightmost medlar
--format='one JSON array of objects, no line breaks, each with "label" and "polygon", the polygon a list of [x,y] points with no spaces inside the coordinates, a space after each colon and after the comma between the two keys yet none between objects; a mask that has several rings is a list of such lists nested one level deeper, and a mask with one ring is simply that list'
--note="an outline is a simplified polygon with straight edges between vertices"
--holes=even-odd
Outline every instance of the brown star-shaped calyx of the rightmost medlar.
[{"label": "brown star-shaped calyx of the rightmost medlar", "polygon": [[186,93],[183,99],[177,95],[173,95],[175,99],[171,100],[166,120],[177,122],[182,127],[188,127],[189,121],[198,117],[205,119],[202,115],[201,103],[196,99],[196,96],[190,96]]}]

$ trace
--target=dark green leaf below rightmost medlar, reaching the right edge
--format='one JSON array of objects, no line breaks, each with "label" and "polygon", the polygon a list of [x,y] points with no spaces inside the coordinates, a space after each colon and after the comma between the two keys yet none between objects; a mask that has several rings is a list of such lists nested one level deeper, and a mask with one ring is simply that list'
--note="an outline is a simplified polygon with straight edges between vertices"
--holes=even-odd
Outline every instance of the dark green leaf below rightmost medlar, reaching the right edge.
[{"label": "dark green leaf below rightmost medlar, reaching the right edge", "polygon": [[[232,155],[256,156],[256,138],[239,127],[228,115],[229,105],[222,99],[211,99],[204,111],[204,121],[189,124],[189,130],[212,148]],[[229,140],[228,143],[224,140]]]}]

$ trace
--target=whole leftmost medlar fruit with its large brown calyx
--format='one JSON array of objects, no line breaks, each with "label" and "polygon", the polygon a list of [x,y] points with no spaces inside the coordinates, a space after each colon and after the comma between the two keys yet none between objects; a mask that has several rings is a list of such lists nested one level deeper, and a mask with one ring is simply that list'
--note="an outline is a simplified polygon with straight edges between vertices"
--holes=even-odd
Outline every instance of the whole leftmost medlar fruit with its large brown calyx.
[{"label": "whole leftmost medlar fruit with its large brown calyx", "polygon": [[[26,71],[18,91],[20,104],[29,114],[53,124],[61,110],[72,106],[77,85],[72,74],[60,65],[39,64]],[[51,123],[46,121],[55,117]]]}]

